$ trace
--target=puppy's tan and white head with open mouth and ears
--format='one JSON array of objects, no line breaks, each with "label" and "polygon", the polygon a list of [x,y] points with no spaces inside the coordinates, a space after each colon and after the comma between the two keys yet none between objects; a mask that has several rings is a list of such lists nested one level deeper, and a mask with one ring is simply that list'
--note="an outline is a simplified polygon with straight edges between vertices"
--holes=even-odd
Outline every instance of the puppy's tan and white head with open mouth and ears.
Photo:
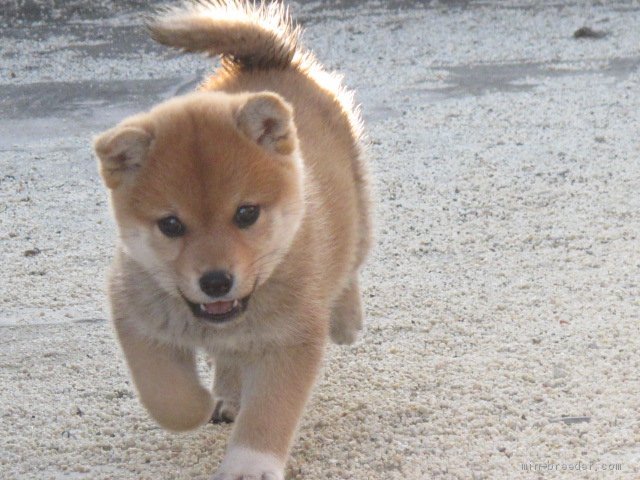
[{"label": "puppy's tan and white head with open mouth and ears", "polygon": [[192,94],[125,120],[94,147],[125,251],[196,317],[240,315],[304,214],[284,100]]}]

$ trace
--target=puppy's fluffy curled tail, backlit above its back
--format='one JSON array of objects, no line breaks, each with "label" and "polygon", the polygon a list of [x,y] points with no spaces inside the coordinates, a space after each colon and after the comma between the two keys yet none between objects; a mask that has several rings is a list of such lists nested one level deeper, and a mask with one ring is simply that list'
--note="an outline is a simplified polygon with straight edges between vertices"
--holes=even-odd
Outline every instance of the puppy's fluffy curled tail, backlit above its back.
[{"label": "puppy's fluffy curled tail, backlit above its back", "polygon": [[163,45],[220,55],[243,69],[287,68],[300,38],[288,10],[264,0],[192,0],[161,11],[148,28]]}]

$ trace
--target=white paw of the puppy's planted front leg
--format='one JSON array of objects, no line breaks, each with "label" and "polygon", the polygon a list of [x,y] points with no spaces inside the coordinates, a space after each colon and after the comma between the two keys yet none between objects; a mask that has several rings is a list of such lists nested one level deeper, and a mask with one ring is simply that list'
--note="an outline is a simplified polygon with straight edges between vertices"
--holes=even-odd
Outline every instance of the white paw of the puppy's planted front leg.
[{"label": "white paw of the puppy's planted front leg", "polygon": [[284,480],[284,463],[269,453],[231,447],[213,480]]}]

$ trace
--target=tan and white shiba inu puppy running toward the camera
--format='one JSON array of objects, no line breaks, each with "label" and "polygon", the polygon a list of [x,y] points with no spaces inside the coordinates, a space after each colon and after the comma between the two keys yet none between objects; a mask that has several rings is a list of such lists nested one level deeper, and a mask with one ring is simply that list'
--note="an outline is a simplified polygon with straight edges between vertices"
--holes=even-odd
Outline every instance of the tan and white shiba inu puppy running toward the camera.
[{"label": "tan and white shiba inu puppy running toward the camera", "polygon": [[[280,5],[190,3],[149,30],[221,66],[95,139],[119,234],[115,331],[158,423],[235,421],[215,479],[282,479],[327,339],[362,327],[359,115]],[[198,350],[215,363],[212,391]]]}]

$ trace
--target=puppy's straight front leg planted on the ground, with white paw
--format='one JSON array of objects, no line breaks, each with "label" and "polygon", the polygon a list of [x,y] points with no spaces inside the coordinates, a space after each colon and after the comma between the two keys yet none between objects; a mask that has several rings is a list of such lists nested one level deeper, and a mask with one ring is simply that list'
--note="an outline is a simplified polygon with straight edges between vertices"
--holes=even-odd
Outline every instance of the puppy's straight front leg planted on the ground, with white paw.
[{"label": "puppy's straight front leg planted on the ground, with white paw", "polygon": [[282,480],[324,342],[282,347],[244,364],[240,413],[214,480]]}]

